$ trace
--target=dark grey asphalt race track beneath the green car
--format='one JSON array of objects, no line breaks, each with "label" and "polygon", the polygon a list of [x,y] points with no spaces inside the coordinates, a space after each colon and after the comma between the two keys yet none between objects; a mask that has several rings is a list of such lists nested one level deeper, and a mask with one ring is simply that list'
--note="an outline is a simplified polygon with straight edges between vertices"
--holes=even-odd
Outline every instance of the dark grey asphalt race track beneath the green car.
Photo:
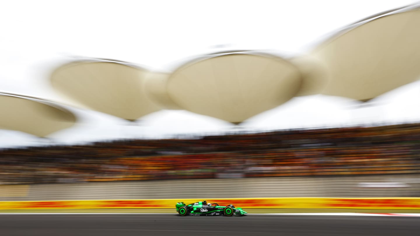
[{"label": "dark grey asphalt race track beneath the green car", "polygon": [[418,235],[418,217],[176,214],[0,215],[4,236],[403,236]]}]

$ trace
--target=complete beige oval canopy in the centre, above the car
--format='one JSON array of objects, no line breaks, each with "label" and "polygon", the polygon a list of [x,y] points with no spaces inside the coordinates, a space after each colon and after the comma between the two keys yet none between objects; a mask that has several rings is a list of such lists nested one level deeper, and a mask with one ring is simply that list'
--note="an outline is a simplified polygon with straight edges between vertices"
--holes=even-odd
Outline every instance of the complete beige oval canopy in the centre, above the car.
[{"label": "complete beige oval canopy in the centre, above the car", "polygon": [[301,77],[281,58],[233,52],[181,66],[166,86],[171,100],[185,110],[241,123],[291,99]]}]

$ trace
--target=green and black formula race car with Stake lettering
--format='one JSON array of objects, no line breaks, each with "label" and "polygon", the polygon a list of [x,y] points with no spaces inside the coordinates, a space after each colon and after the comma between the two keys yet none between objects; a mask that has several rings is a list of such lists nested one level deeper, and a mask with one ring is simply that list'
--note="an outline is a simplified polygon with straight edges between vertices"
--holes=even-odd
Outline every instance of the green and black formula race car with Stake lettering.
[{"label": "green and black formula race car with Stake lettering", "polygon": [[185,215],[244,215],[247,212],[242,210],[240,207],[234,205],[228,205],[226,207],[219,206],[217,203],[207,203],[207,201],[194,202],[189,205],[185,205],[184,202],[176,203],[176,211],[180,216]]}]

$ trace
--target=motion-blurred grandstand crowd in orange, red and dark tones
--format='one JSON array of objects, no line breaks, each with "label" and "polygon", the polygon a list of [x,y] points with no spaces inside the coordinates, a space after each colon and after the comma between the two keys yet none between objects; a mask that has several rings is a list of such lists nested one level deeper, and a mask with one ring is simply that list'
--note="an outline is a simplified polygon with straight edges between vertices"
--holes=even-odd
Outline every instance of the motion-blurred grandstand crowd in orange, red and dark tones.
[{"label": "motion-blurred grandstand crowd in orange, red and dark tones", "polygon": [[0,184],[407,174],[419,166],[415,123],[3,149]]}]

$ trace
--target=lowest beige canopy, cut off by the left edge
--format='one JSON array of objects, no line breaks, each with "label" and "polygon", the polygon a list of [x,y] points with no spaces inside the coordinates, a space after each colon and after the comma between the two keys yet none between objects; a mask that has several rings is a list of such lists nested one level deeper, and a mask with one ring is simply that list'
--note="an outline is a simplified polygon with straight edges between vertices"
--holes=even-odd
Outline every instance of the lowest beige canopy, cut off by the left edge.
[{"label": "lowest beige canopy, cut off by the left edge", "polygon": [[76,123],[76,116],[55,103],[0,93],[0,128],[45,137]]}]

